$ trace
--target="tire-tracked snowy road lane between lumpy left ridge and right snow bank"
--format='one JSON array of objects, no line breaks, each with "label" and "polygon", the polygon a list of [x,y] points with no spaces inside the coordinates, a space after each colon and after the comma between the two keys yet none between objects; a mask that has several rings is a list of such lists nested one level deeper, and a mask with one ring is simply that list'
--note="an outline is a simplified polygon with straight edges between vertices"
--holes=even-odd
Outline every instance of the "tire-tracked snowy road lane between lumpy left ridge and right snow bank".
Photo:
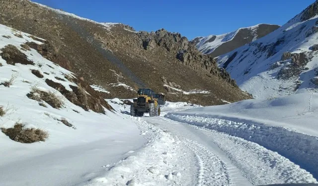
[{"label": "tire-tracked snowy road lane between lumpy left ridge and right snow bank", "polygon": [[182,138],[199,162],[198,185],[251,186],[307,183],[315,179],[276,152],[225,133],[194,127],[163,117],[145,117],[150,124]]}]

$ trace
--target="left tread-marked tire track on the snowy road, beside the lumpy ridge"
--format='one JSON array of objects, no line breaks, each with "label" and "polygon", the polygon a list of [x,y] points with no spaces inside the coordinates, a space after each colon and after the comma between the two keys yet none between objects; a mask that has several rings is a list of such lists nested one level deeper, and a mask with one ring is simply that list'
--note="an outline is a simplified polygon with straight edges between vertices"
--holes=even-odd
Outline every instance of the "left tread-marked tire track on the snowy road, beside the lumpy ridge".
[{"label": "left tread-marked tire track on the snowy road, beside the lumpy ridge", "polygon": [[230,186],[231,180],[226,165],[217,155],[203,145],[183,138],[182,142],[192,150],[198,161],[197,186]]}]

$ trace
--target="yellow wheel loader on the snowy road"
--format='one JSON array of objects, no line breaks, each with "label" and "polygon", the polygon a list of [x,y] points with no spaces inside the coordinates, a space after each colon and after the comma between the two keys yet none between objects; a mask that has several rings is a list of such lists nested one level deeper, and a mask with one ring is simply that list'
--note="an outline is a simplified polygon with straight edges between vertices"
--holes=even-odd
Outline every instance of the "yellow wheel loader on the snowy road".
[{"label": "yellow wheel loader on the snowy road", "polygon": [[130,115],[141,117],[149,113],[150,117],[160,116],[160,105],[164,104],[164,95],[156,94],[150,88],[139,88],[138,97],[130,106]]}]

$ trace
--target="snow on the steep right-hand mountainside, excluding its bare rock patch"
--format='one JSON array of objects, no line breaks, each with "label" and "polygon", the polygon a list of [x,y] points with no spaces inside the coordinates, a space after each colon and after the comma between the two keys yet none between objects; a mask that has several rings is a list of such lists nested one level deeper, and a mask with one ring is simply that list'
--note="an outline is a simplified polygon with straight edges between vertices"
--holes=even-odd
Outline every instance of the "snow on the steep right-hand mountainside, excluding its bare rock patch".
[{"label": "snow on the steep right-hand mountainside, excluding its bare rock patch", "polygon": [[[236,57],[227,66],[226,70],[234,78],[239,87],[253,95],[254,98],[273,98],[295,93],[317,92],[317,87],[311,79],[317,76],[318,55],[311,50],[316,44],[318,33],[311,29],[316,26],[318,16],[306,21],[300,21],[301,14],[272,33],[242,46],[228,54],[218,57],[218,64],[223,67],[225,62],[234,54]],[[311,33],[311,35],[310,35]],[[275,54],[267,57],[270,46]],[[286,68],[290,61],[281,61],[284,52],[302,53],[312,55],[312,59],[301,71],[300,75],[283,80],[277,74]],[[271,68],[273,64],[276,67]],[[300,86],[298,85],[300,83]]]}]

